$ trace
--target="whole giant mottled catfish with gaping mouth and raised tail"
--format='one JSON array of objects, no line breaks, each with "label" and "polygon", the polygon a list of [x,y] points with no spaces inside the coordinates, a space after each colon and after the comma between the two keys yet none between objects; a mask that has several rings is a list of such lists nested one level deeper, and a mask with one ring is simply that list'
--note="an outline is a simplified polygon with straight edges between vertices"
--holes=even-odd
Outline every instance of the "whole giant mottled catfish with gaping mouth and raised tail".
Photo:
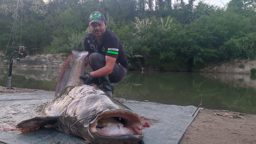
[{"label": "whole giant mottled catfish with gaping mouth and raised tail", "polygon": [[79,76],[88,52],[72,53],[61,69],[55,96],[42,108],[41,117],[22,121],[17,129],[28,132],[46,126],[92,144],[141,141],[143,126],[138,115],[101,89],[83,85]]}]

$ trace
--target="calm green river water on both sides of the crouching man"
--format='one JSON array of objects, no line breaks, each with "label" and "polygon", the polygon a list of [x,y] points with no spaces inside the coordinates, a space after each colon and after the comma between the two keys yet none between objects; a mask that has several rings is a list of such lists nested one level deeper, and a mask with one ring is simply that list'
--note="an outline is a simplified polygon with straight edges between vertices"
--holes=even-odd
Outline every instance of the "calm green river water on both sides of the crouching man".
[{"label": "calm green river water on both sides of the crouching man", "polygon": [[[11,86],[55,91],[60,69],[13,68]],[[8,68],[0,69],[0,86],[7,85]],[[170,105],[256,114],[256,77],[239,74],[128,71],[115,84],[114,96]]]}]

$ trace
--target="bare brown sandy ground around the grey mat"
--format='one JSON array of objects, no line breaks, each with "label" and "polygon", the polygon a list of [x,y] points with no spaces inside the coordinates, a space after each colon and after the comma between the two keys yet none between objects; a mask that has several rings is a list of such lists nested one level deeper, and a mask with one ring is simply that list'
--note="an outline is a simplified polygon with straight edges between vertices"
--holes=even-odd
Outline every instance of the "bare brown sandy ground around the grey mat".
[{"label": "bare brown sandy ground around the grey mat", "polygon": [[[7,89],[0,95],[21,92],[52,92],[26,88]],[[179,144],[256,144],[256,115],[225,110],[200,110]]]}]

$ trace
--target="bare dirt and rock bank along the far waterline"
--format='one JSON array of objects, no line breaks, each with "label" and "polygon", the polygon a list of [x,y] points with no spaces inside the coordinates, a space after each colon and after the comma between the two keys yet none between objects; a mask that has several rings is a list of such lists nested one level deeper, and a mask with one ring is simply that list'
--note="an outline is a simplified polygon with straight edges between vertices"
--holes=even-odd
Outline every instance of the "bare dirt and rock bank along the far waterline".
[{"label": "bare dirt and rock bank along the far waterline", "polygon": [[[14,67],[35,67],[35,68],[61,68],[69,54],[42,54],[37,56],[27,56],[20,58],[20,61],[14,60]],[[1,60],[0,60],[1,62]],[[5,60],[3,67],[9,66],[9,61]],[[132,68],[132,67],[131,67]],[[236,59],[234,61],[224,61],[218,64],[209,64],[203,69],[194,69],[195,72],[214,72],[214,73],[240,73],[250,74],[251,69],[256,68],[256,60]],[[139,67],[138,70],[155,71],[157,68]]]}]

